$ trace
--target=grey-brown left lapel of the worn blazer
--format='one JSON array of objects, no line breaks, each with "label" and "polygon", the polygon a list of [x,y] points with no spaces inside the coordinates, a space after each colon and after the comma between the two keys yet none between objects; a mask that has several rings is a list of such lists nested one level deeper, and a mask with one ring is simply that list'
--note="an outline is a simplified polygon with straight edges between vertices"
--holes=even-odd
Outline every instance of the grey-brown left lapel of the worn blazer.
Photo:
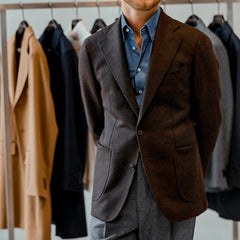
[{"label": "grey-brown left lapel of the worn blazer", "polygon": [[138,105],[136,96],[129,77],[126,54],[121,33],[121,18],[113,25],[111,33],[106,34],[106,38],[99,43],[106,62],[117,81],[123,95],[127,99],[130,107],[138,117]]}]

